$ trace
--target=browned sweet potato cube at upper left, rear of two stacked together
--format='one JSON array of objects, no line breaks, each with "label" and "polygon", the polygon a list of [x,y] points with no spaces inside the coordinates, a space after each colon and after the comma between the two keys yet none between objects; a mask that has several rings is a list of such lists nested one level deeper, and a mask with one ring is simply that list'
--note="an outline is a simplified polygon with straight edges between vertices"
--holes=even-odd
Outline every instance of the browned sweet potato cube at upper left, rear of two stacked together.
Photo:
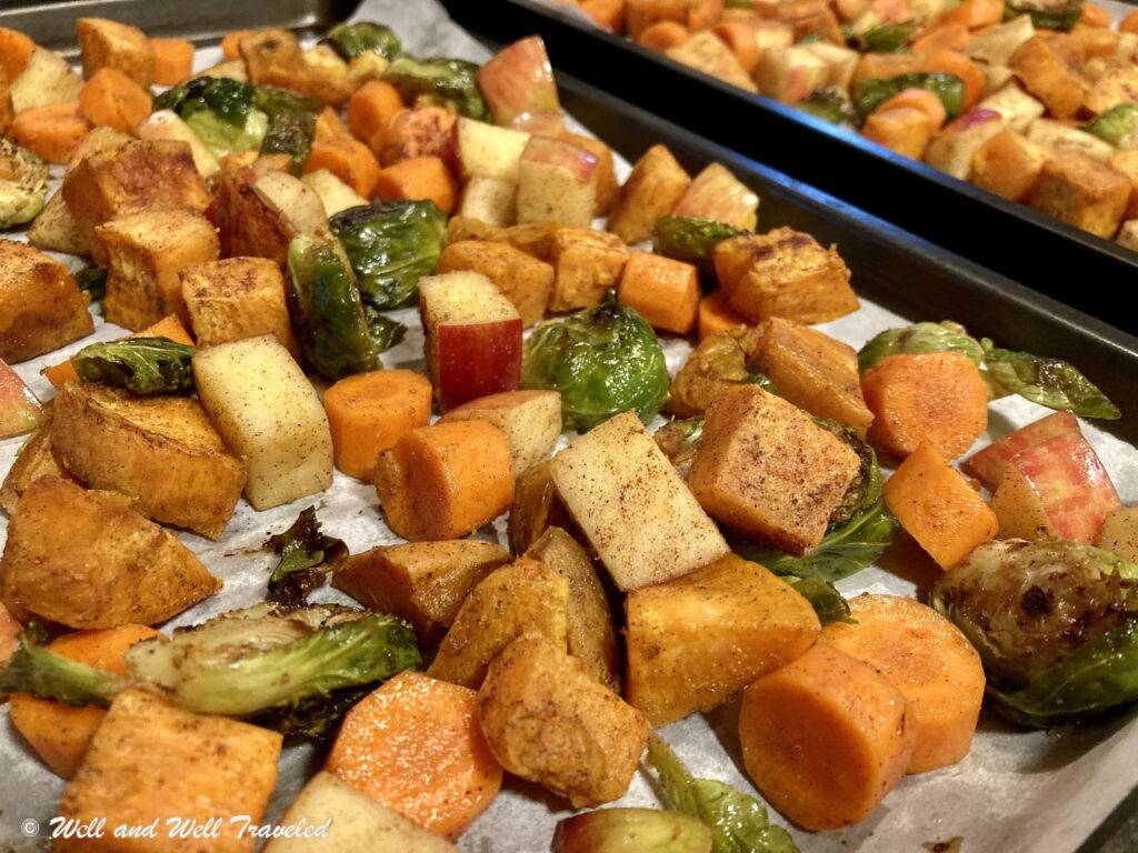
[{"label": "browned sweet potato cube at upper left, rear of two stacked together", "polygon": [[67,173],[63,193],[101,266],[107,250],[96,237],[99,225],[145,210],[200,214],[209,206],[190,147],[172,140],[138,140],[96,151]]}]

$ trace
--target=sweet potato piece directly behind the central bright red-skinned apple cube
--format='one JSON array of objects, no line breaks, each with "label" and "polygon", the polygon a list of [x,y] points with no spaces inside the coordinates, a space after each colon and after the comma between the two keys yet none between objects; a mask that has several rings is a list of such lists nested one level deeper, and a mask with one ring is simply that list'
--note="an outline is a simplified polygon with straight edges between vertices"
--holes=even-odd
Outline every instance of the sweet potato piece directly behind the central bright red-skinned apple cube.
[{"label": "sweet potato piece directly behind the central bright red-skinned apple cube", "polygon": [[450,243],[438,258],[435,274],[472,270],[497,284],[521,315],[522,325],[545,317],[553,291],[553,266],[509,243],[462,240]]}]

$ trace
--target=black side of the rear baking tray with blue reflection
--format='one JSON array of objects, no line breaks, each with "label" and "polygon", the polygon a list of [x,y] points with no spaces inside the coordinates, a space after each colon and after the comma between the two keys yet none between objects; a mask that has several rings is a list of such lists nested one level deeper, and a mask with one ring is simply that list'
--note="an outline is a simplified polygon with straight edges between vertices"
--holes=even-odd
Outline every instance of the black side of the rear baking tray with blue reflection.
[{"label": "black side of the rear baking tray with blue reflection", "polygon": [[541,33],[566,73],[1138,332],[1123,307],[1138,254],[533,0],[444,2],[476,34],[505,43]]}]

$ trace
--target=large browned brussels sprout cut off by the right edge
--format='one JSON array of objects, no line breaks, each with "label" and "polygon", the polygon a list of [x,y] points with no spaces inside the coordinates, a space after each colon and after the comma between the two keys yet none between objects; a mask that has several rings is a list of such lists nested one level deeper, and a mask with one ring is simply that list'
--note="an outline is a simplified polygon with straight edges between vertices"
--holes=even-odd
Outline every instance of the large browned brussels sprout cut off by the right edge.
[{"label": "large browned brussels sprout cut off by the right edge", "polygon": [[997,706],[1050,726],[1138,698],[1138,565],[1067,541],[976,548],[932,588]]}]

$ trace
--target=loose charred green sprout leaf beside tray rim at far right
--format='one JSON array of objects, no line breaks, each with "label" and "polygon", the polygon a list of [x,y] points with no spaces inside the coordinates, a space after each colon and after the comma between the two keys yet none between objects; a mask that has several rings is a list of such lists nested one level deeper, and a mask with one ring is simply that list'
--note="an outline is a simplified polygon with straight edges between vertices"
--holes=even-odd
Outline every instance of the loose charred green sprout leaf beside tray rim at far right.
[{"label": "loose charred green sprout leaf beside tray rim at far right", "polygon": [[992,383],[1048,408],[1066,409],[1082,417],[1115,421],[1119,407],[1074,366],[1058,358],[1044,358],[981,341],[984,366]]}]

